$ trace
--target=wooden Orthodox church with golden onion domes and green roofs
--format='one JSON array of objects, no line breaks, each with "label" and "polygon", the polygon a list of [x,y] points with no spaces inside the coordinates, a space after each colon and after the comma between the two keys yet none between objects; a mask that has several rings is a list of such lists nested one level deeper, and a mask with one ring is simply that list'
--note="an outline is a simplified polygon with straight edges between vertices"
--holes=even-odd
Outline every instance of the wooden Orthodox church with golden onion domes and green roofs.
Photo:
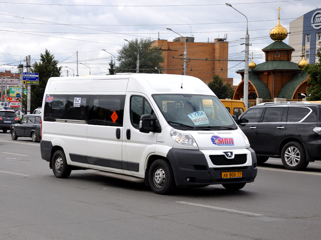
[{"label": "wooden Orthodox church with golden onion domes and green roofs", "polygon": [[[297,64],[291,62],[294,48],[282,42],[288,36],[286,28],[280,24],[280,8],[278,24],[271,29],[270,37],[274,42],[262,51],[265,53],[265,62],[249,64],[248,72],[248,99],[301,99],[301,93],[306,94],[308,74],[302,69],[308,64],[304,58]],[[237,86],[233,99],[243,98],[244,69],[237,71],[242,76],[242,82]]]}]

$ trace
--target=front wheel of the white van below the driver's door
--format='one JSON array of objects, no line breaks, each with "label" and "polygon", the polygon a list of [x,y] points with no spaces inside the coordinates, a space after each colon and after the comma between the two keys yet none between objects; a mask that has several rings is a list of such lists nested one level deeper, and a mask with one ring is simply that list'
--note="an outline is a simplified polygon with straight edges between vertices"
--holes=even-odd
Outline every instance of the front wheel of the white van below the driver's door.
[{"label": "front wheel of the white van below the driver's door", "polygon": [[149,169],[148,180],[157,194],[169,194],[176,186],[172,167],[165,159],[154,161]]}]

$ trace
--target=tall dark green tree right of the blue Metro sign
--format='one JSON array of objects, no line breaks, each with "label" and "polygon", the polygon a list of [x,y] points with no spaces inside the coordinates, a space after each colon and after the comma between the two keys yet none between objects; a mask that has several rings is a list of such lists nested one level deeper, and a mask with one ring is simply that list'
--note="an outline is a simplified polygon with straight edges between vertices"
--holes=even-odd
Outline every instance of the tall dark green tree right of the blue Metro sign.
[{"label": "tall dark green tree right of the blue Metro sign", "polygon": [[[61,68],[58,67],[58,60],[46,49],[45,54],[40,53],[40,61],[35,62],[31,67],[31,72],[39,73],[39,84],[31,85],[30,112],[42,106],[43,95],[50,77],[59,77]],[[27,107],[24,104],[25,108]]]}]

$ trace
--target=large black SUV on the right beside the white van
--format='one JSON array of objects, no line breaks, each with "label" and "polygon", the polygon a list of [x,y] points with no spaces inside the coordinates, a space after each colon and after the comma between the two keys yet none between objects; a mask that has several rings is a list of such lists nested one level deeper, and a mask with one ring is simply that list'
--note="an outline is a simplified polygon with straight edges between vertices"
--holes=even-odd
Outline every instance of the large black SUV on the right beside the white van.
[{"label": "large black SUV on the right beside the white van", "polygon": [[261,103],[247,109],[237,123],[258,163],[281,157],[287,169],[303,170],[321,160],[320,103]]}]

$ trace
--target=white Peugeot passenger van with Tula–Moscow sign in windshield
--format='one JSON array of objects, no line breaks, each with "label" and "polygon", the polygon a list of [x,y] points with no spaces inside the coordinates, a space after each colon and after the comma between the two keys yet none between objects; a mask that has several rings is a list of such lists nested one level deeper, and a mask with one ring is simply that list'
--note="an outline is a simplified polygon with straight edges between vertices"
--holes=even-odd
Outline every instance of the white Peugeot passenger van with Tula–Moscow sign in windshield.
[{"label": "white Peugeot passenger van with Tula\u2013Moscow sign in windshield", "polygon": [[195,77],[52,77],[41,116],[41,156],[57,178],[94,169],[168,194],[176,185],[238,190],[256,177],[247,137]]}]

